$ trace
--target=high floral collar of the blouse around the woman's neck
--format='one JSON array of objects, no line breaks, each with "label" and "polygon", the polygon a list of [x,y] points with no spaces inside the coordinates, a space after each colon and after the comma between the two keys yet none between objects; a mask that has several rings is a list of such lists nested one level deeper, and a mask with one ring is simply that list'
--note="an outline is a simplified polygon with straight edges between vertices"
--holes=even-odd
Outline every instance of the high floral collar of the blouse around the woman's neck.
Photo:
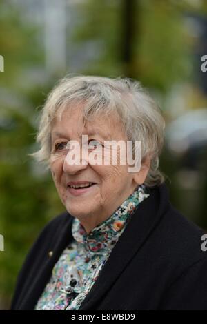
[{"label": "high floral collar of the blouse around the woman's neck", "polygon": [[75,218],[72,222],[72,236],[77,242],[83,243],[87,251],[101,254],[110,252],[139,203],[149,196],[146,192],[146,186],[139,185],[108,219],[94,227],[89,234],[79,219]]}]

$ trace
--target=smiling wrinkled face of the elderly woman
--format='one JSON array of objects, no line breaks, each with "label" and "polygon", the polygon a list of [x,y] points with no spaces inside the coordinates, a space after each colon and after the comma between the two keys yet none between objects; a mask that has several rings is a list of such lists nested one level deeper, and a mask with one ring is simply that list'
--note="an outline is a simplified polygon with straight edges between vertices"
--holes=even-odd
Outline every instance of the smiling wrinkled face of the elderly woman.
[{"label": "smiling wrinkled face of the elderly woman", "polygon": [[[148,169],[137,173],[128,172],[128,165],[121,165],[119,152],[117,165],[93,165],[86,156],[81,163],[68,163],[68,141],[82,141],[82,135],[88,135],[85,148],[88,156],[95,148],[103,153],[104,141],[126,141],[126,135],[121,130],[117,115],[95,118],[83,125],[82,108],[65,110],[61,119],[55,119],[51,134],[50,170],[55,181],[57,192],[66,206],[66,210],[81,221],[89,233],[93,227],[108,219],[117,207],[123,203],[135,190],[137,185],[144,182]],[[72,143],[72,142],[69,142]],[[103,146],[101,146],[103,145]],[[74,147],[73,147],[74,148]],[[106,148],[105,154],[112,148]],[[74,151],[75,152],[75,151]],[[97,154],[98,156],[99,154]],[[104,156],[104,154],[102,155]],[[70,188],[70,183],[95,183],[86,189]]]}]

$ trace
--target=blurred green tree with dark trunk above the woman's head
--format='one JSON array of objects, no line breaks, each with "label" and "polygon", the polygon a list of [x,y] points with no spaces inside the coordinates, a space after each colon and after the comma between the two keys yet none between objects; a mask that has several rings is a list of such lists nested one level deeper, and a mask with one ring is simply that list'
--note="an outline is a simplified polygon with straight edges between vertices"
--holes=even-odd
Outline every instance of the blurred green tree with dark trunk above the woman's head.
[{"label": "blurred green tree with dark trunk above the woman's head", "polygon": [[188,77],[190,53],[182,10],[172,1],[83,1],[74,41],[94,41],[84,72],[126,75],[166,92]]}]

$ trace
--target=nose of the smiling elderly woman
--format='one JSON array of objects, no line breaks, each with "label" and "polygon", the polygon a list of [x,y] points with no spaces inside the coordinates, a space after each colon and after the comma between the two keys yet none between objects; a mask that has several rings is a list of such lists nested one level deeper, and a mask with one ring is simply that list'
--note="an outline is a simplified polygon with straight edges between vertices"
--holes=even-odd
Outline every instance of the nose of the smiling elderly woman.
[{"label": "nose of the smiling elderly woman", "polygon": [[63,172],[76,174],[88,167],[88,154],[81,146],[73,144],[74,150],[69,150],[63,161]]}]

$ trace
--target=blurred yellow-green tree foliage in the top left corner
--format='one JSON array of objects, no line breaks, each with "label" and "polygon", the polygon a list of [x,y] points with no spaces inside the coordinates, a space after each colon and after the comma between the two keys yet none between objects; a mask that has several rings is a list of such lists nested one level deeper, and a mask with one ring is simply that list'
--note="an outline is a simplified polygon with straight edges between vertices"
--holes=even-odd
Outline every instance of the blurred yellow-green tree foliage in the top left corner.
[{"label": "blurred yellow-green tree foliage in the top left corner", "polygon": [[[25,8],[14,1],[1,0],[0,51],[5,58],[5,73],[1,74],[0,85],[17,90],[19,80],[26,68],[43,63],[37,26],[21,19]],[[38,44],[38,46],[37,46]]]}]

